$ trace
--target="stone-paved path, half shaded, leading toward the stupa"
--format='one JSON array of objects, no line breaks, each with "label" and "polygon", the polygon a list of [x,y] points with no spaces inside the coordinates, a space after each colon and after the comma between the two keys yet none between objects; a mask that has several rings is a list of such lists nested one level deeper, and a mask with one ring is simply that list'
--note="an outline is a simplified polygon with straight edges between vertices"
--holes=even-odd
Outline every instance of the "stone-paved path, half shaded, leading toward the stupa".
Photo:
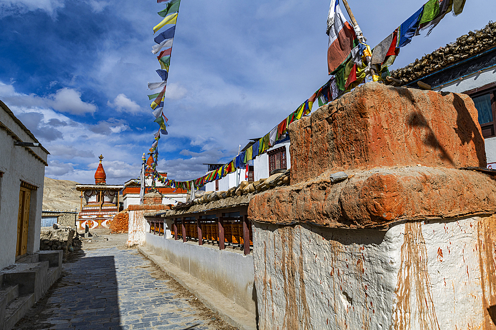
[{"label": "stone-paved path, half shaded, leading toward the stupa", "polygon": [[79,252],[14,329],[235,329],[136,250]]}]

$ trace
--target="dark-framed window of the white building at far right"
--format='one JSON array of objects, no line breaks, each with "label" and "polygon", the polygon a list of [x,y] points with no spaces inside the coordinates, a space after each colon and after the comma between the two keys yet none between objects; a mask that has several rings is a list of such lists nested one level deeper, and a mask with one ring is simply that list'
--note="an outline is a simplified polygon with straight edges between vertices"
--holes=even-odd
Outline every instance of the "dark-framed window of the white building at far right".
[{"label": "dark-framed window of the white building at far right", "polygon": [[491,138],[496,136],[496,83],[488,84],[465,92],[474,101],[479,115],[479,125],[481,125],[482,136]]}]

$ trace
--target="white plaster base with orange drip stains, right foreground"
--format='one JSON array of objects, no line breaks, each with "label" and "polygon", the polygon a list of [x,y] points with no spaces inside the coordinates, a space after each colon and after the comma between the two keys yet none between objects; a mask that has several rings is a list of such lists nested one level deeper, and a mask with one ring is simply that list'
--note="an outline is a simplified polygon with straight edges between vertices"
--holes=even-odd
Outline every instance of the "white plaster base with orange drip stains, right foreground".
[{"label": "white plaster base with orange drip stains, right foreground", "polygon": [[255,224],[259,329],[496,329],[487,219],[387,232]]}]

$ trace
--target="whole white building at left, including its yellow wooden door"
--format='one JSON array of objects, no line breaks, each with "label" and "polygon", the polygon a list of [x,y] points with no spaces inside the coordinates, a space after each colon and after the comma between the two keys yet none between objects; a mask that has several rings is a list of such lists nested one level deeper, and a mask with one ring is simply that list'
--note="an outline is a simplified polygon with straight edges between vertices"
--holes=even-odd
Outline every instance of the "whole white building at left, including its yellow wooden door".
[{"label": "whole white building at left, including its yellow wooden door", "polygon": [[49,152],[33,143],[39,141],[0,101],[0,269],[40,248]]}]

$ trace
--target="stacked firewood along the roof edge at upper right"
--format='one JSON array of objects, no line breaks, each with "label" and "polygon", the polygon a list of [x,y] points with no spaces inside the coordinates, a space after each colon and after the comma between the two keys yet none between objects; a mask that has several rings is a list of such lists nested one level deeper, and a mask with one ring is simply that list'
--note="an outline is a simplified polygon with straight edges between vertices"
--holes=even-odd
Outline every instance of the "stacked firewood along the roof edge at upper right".
[{"label": "stacked firewood along the roof edge at upper right", "polygon": [[408,84],[420,77],[438,71],[465,58],[478,54],[486,49],[495,47],[496,23],[489,23],[478,31],[470,31],[456,39],[456,42],[440,47],[434,52],[425,55],[420,60],[404,68],[391,72],[391,77]]}]

